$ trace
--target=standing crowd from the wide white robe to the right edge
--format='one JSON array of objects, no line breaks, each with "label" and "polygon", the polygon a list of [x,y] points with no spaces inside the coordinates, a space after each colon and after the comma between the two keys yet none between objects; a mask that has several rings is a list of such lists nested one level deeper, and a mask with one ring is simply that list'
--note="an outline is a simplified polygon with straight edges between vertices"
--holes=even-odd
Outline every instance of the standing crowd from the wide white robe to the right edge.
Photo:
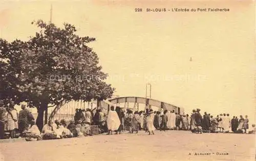
[{"label": "standing crowd from the wide white robe to the right edge", "polygon": [[[204,112],[202,116],[200,109],[194,109],[190,114],[178,114],[175,110],[164,110],[161,114],[160,111],[153,111],[146,109],[145,111],[135,111],[127,109],[126,112],[121,111],[120,107],[114,110],[111,108],[111,115],[109,116],[115,124],[114,130],[109,128],[110,131],[116,131],[116,134],[121,131],[127,130],[130,133],[138,132],[138,130],[145,130],[148,134],[154,134],[155,130],[191,130],[193,133],[255,133],[255,125],[252,124],[252,130],[248,131],[249,120],[248,116],[240,116],[240,119],[233,117],[229,118],[229,113],[223,113],[216,118],[211,116],[210,113]],[[115,114],[114,114],[115,113]],[[125,114],[126,113],[126,114]],[[114,123],[115,122],[115,123]]]}]

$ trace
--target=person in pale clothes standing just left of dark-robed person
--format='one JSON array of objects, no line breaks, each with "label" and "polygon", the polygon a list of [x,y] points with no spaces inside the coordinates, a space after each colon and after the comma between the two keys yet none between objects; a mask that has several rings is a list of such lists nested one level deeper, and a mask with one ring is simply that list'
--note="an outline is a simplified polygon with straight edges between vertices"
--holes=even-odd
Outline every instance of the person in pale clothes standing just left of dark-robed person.
[{"label": "person in pale clothes standing just left of dark-robed person", "polygon": [[7,109],[7,130],[12,131],[18,128],[18,115],[14,109],[14,105],[11,104]]}]

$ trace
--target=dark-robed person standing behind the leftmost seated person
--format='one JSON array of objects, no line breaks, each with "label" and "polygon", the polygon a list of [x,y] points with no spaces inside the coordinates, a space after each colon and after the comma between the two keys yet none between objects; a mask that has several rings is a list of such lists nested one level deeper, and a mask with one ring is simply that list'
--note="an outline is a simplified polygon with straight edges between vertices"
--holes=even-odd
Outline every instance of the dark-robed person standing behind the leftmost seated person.
[{"label": "dark-robed person standing behind the leftmost seated person", "polygon": [[18,129],[20,133],[29,129],[31,121],[35,120],[32,113],[22,104],[22,110],[18,113]]}]

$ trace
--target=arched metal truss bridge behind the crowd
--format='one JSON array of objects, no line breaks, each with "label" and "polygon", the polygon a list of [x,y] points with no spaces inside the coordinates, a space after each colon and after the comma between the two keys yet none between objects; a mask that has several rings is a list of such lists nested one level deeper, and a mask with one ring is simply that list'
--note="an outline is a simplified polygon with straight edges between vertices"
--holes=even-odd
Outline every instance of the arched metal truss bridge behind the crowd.
[{"label": "arched metal truss bridge behind the crowd", "polygon": [[[129,107],[130,103],[130,107]],[[131,103],[133,106],[131,106]],[[87,105],[86,105],[87,104]],[[124,105],[121,105],[124,104]],[[140,106],[139,105],[143,104]],[[108,111],[110,110],[110,106],[120,106],[121,108],[130,108],[133,111],[136,110],[144,110],[145,107],[157,107],[159,111],[162,110],[174,110],[175,112],[179,114],[184,114],[184,108],[178,107],[166,102],[162,102],[159,100],[154,100],[151,98],[144,98],[144,97],[117,97],[117,98],[110,98],[103,101],[91,101],[91,102],[83,102],[82,100],[79,101],[61,101],[51,112],[49,116],[49,120],[55,120],[55,119],[66,119],[71,120],[74,118],[75,109],[81,108],[86,109],[90,108],[94,112],[96,109],[102,109],[102,111],[105,114],[108,114]]]}]

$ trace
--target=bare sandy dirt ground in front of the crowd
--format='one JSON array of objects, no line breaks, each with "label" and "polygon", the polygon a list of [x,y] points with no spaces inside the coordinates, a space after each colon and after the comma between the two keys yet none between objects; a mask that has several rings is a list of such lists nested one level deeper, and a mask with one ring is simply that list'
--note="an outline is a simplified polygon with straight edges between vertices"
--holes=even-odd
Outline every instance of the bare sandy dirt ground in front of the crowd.
[{"label": "bare sandy dirt ground in front of the crowd", "polygon": [[[156,131],[0,142],[0,160],[255,160],[255,135]],[[200,154],[201,153],[201,154]],[[202,153],[204,155],[202,155]],[[223,155],[221,155],[223,154]],[[225,154],[225,155],[224,155]]]}]

